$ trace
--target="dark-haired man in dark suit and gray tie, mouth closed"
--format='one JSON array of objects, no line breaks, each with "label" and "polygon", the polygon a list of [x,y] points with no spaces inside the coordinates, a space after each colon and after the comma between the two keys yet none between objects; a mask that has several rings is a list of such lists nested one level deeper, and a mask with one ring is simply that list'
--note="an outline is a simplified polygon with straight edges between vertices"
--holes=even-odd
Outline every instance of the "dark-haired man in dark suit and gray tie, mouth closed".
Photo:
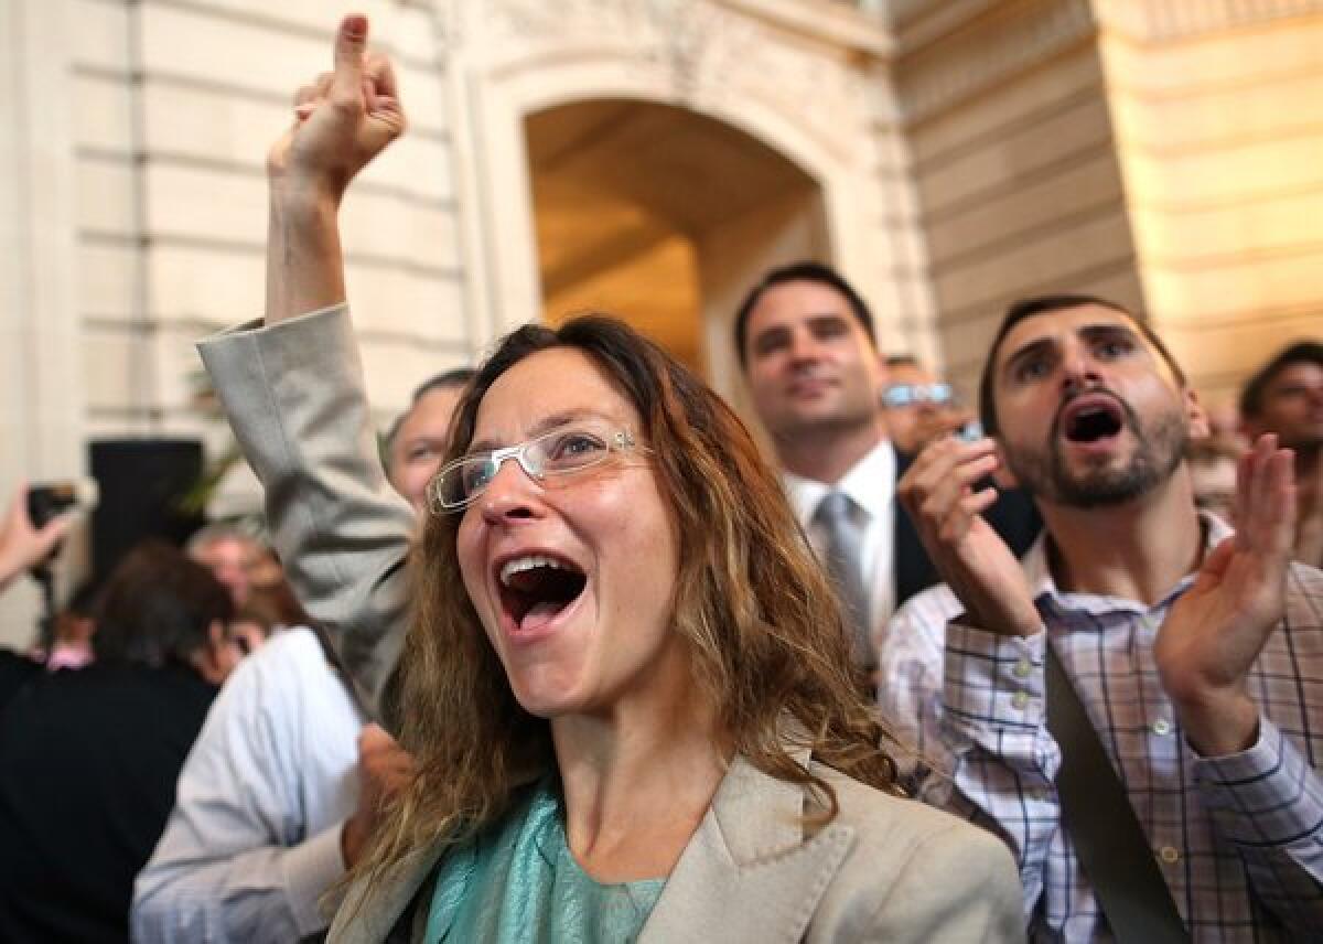
[{"label": "dark-haired man in dark suit and gray tie, mouth closed", "polygon": [[[896,503],[896,482],[912,457],[888,438],[873,316],[835,270],[796,262],[771,270],[749,293],[734,342],[786,493],[841,592],[856,659],[871,670],[896,606],[938,583]],[[1039,530],[1019,495],[1003,496],[990,520],[1017,552]]]}]

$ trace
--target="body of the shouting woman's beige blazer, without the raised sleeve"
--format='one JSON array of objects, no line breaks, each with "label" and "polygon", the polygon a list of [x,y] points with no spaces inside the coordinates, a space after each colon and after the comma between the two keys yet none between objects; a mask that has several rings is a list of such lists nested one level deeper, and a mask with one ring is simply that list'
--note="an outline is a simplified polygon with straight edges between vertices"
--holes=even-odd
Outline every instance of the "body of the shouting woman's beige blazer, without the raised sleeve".
[{"label": "body of the shouting woman's beige blazer, without the raised sleeve", "polygon": [[[1020,882],[996,837],[811,769],[840,804],[816,831],[803,825],[803,788],[734,760],[640,944],[1024,940]],[[435,849],[415,853],[365,900],[361,882],[351,887],[328,944],[421,941],[439,858]]]}]

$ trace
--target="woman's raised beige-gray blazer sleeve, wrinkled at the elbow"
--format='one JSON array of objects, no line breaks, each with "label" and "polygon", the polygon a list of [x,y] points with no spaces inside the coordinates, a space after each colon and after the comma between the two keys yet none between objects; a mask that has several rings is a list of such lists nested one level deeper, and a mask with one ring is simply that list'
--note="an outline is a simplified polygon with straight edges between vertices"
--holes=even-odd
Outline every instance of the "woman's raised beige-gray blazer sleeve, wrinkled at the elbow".
[{"label": "woman's raised beige-gray blazer sleeve, wrinkled at the elbow", "polygon": [[348,307],[245,324],[197,347],[262,482],[290,585],[380,718],[409,625],[415,522],[381,469]]}]

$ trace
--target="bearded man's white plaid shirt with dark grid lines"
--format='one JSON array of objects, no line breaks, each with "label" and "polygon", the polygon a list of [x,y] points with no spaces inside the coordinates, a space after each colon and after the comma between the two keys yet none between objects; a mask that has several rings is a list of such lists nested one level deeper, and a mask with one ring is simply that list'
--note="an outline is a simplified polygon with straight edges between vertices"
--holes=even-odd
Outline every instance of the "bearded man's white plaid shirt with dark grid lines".
[{"label": "bearded man's white plaid shirt with dark grid lines", "polygon": [[[1204,518],[1208,545],[1229,528]],[[1052,646],[1101,732],[1197,941],[1323,940],[1323,572],[1293,565],[1286,617],[1250,673],[1257,743],[1199,757],[1162,688],[1152,643],[1181,580],[1155,606],[1064,593],[1044,540],[1023,561],[1046,633],[1008,638],[949,621],[946,587],[906,604],[881,650],[881,702],[918,743],[917,793],[1002,835],[1020,863],[1033,940],[1109,940],[1060,829],[1060,749],[1044,722]]]}]

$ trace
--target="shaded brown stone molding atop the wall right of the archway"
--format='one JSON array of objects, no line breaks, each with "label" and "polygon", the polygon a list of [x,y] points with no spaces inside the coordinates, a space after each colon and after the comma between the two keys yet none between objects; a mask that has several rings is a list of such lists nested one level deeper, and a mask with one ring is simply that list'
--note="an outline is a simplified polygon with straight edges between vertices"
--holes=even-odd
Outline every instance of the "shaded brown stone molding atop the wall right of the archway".
[{"label": "shaded brown stone molding atop the wall right of the archway", "polygon": [[[1012,0],[896,62],[906,123],[921,122],[1097,32],[1089,0]],[[904,50],[902,40],[902,50]]]}]

